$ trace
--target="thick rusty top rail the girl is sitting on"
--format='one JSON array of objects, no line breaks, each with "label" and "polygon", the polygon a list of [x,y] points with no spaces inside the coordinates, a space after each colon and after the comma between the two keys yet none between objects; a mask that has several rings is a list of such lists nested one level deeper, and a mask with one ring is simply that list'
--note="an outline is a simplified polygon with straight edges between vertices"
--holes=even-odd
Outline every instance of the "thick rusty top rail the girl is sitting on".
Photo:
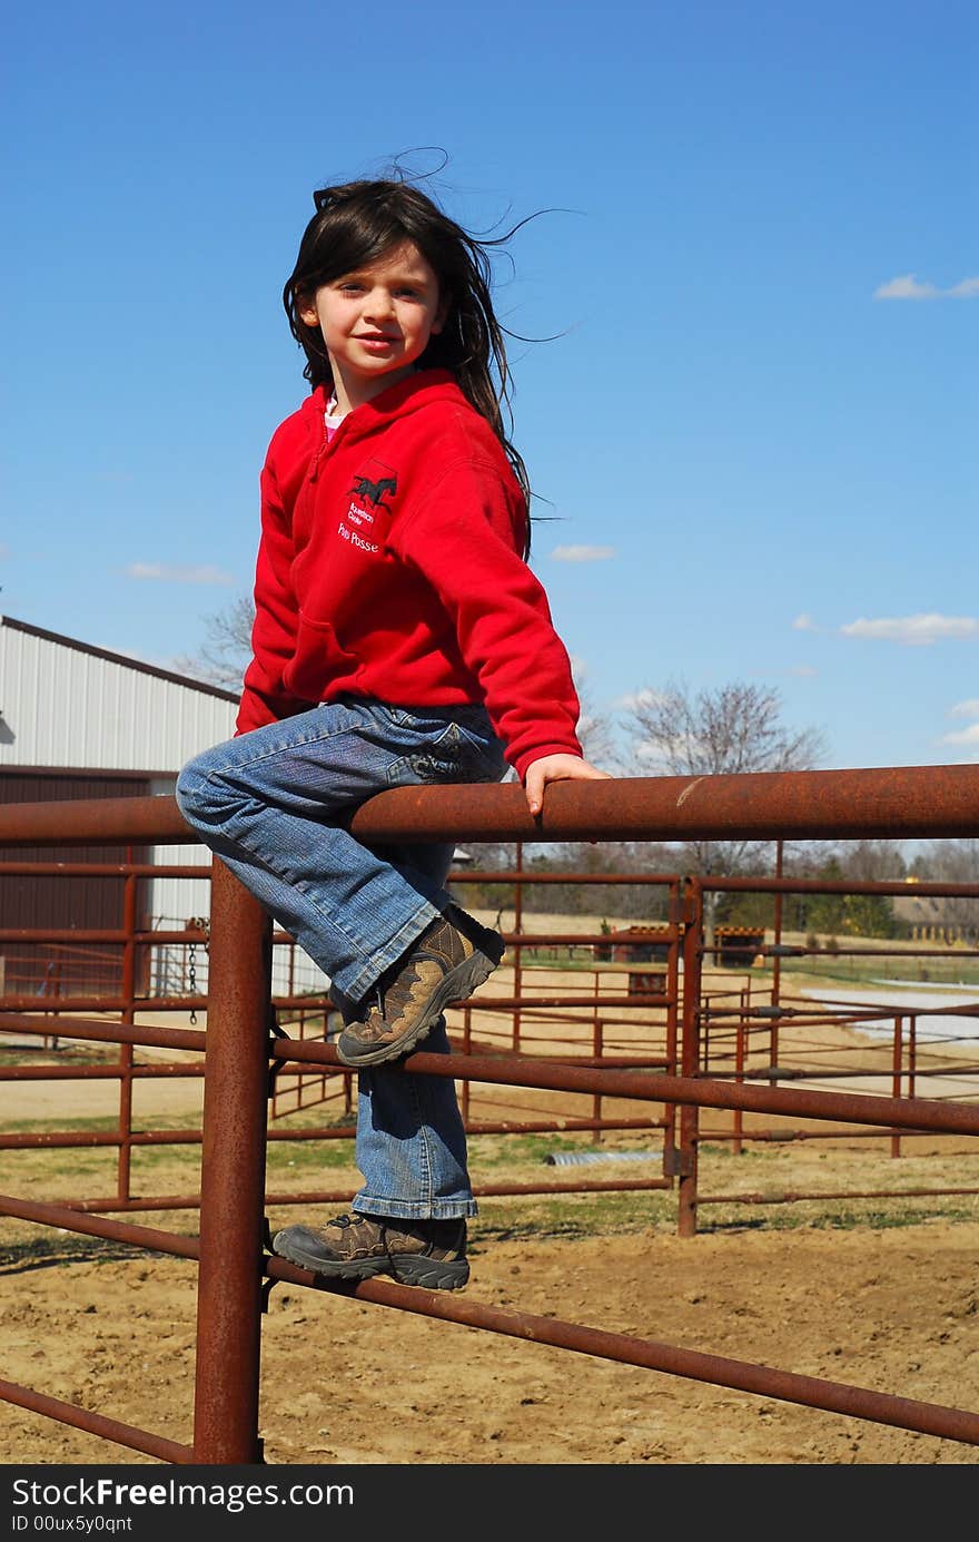
[{"label": "thick rusty top rail the girl is sitting on", "polygon": [[[765,771],[743,776],[553,782],[533,819],[523,788],[419,786],[355,813],[359,840],[940,839],[979,830],[979,766]],[[0,847],[183,843],[171,797],[79,799],[0,808]]]}]

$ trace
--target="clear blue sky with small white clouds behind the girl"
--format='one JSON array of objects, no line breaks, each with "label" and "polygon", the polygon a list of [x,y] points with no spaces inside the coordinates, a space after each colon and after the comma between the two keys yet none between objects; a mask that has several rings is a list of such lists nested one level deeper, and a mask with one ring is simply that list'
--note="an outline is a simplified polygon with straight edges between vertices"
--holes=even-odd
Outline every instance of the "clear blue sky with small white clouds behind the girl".
[{"label": "clear blue sky with small white clouds behind the girl", "polygon": [[251,588],[330,180],[447,163],[533,567],[611,717],[746,680],[826,766],[979,760],[970,0],[6,17],[0,611],[167,665]]}]

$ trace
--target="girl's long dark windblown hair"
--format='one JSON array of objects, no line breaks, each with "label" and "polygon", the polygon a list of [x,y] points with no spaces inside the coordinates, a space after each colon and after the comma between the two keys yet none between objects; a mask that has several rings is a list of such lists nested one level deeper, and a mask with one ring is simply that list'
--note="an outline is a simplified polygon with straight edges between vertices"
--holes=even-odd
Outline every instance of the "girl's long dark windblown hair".
[{"label": "girl's long dark windblown hair", "polygon": [[361,180],[319,188],[313,204],[316,213],[304,231],[296,265],[282,290],[290,330],[307,358],[304,376],[311,386],[333,384],[322,335],[316,327],[307,327],[299,310],[313,301],[324,284],[412,241],[432,265],[439,296],[449,299],[446,324],[432,335],[418,364],[421,369],[452,370],[469,402],[503,444],[529,503],[527,469],[504,426],[512,382],[504,330],[496,321],[490,293],[490,248],[503,245],[513,231],[479,241],[409,182]]}]

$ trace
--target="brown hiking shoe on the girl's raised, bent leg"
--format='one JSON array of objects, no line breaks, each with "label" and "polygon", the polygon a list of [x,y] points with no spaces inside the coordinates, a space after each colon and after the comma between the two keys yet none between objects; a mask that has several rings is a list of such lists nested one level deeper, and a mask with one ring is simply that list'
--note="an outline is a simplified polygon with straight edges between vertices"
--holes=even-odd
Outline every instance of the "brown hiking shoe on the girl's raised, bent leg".
[{"label": "brown hiking shoe on the girl's raised, bent leg", "polygon": [[364,1021],[347,1024],[336,1041],[339,1059],[356,1069],[407,1055],[444,1007],[466,1001],[489,979],[503,954],[498,931],[447,905],[381,976]]}]

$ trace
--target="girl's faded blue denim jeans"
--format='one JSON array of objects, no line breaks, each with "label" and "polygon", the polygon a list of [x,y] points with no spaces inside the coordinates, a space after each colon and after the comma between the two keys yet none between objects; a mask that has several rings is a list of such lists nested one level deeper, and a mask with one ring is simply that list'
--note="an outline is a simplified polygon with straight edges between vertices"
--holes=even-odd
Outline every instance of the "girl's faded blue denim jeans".
[{"label": "girl's faded blue denim jeans", "polygon": [[[254,728],[190,760],[177,780],[188,825],[330,978],[356,1016],[384,970],[452,896],[452,845],[365,847],[350,813],[390,786],[500,782],[503,745],[481,706],[404,708],[344,697]],[[424,1041],[449,1053],[444,1019]],[[358,1073],[353,1206],[368,1215],[475,1215],[455,1084],[398,1062]]]}]

